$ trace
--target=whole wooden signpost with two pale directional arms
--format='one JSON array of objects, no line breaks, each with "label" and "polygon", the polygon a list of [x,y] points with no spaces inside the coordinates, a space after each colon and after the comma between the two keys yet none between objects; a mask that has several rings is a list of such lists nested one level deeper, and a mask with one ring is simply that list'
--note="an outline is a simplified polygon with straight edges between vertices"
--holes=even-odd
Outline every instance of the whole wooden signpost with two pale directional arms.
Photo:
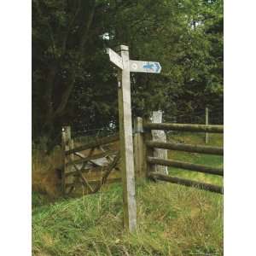
[{"label": "whole wooden signpost with two pale directional arms", "polygon": [[121,172],[123,183],[124,224],[125,229],[133,232],[137,227],[137,207],[135,198],[135,176],[133,163],[133,143],[131,125],[131,82],[130,72],[160,73],[159,62],[131,61],[129,48],[120,45],[118,53],[107,49],[109,59],[118,73],[119,96],[119,137],[121,152]]}]

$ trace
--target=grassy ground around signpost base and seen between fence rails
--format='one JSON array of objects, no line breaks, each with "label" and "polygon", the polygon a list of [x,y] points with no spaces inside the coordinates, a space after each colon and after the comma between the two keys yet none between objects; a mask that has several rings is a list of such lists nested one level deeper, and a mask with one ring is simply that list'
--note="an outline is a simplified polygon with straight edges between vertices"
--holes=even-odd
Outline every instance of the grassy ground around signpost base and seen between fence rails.
[{"label": "grassy ground around signpost base and seen between fence rails", "polygon": [[[203,134],[169,140],[204,143]],[[210,145],[223,137],[210,135]],[[223,157],[169,152],[169,158],[222,166]],[[222,177],[169,168],[170,174],[222,184]],[[122,229],[119,183],[95,195],[57,198],[32,194],[33,255],[222,255],[223,196],[181,185],[137,180],[137,233]]]}]

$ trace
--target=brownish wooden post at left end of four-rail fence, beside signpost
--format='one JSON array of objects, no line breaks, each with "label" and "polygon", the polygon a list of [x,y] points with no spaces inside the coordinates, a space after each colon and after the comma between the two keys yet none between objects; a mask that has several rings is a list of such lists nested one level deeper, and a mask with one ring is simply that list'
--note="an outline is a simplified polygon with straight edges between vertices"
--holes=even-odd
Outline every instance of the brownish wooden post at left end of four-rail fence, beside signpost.
[{"label": "brownish wooden post at left end of four-rail fence, beside signpost", "polygon": [[144,177],[143,172],[143,119],[134,119],[134,167],[137,177]]}]

